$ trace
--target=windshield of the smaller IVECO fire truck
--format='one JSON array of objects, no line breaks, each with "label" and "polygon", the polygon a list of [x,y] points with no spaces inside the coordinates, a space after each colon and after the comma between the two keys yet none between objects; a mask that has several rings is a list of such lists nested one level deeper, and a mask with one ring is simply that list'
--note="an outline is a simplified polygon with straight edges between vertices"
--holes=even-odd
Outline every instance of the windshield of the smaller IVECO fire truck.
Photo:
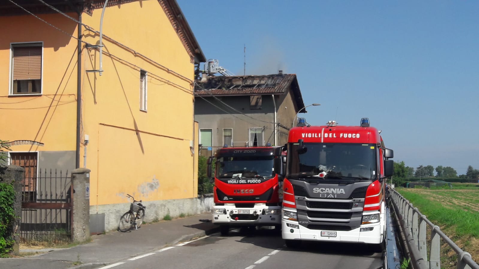
[{"label": "windshield of the smaller IVECO fire truck", "polygon": [[272,178],[274,177],[274,156],[225,156],[216,163],[216,177],[230,178]]}]

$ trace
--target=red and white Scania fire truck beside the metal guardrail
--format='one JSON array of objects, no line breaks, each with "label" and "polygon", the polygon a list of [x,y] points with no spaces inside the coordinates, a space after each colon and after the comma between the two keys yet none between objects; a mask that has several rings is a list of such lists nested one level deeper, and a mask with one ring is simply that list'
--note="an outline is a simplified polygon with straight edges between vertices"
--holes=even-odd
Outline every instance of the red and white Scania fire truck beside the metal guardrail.
[{"label": "red and white Scania fire truck beside the metal guardrail", "polygon": [[301,126],[289,131],[283,182],[282,236],[287,247],[301,240],[385,247],[386,177],[393,151],[381,131],[359,126]]}]

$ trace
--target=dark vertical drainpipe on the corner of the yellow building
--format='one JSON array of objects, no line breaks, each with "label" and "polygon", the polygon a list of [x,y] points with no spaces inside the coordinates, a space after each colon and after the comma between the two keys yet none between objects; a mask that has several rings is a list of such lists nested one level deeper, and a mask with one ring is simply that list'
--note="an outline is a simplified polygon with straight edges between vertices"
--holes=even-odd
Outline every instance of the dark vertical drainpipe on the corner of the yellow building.
[{"label": "dark vertical drainpipe on the corner of the yellow building", "polygon": [[77,44],[77,150],[75,168],[80,168],[80,128],[81,128],[81,13],[78,14],[78,44]]}]

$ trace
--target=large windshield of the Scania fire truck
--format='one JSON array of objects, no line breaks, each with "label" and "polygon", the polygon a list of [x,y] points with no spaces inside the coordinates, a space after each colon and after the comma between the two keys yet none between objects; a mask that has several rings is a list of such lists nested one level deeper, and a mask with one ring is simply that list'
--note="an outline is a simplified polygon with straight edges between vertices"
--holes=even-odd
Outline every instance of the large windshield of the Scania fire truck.
[{"label": "large windshield of the Scania fire truck", "polygon": [[374,179],[377,176],[374,144],[303,143],[303,147],[298,151],[297,143],[288,144],[286,178]]}]

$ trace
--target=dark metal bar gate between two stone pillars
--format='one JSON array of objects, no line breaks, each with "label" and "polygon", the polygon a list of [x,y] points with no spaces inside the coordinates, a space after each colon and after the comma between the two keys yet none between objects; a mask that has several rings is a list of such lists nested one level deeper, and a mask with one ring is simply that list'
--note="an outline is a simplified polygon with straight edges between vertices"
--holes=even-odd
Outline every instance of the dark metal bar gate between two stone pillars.
[{"label": "dark metal bar gate between two stone pillars", "polygon": [[11,154],[11,164],[25,169],[23,175],[23,241],[67,241],[71,238],[72,186],[68,171],[38,171],[36,153]]}]

